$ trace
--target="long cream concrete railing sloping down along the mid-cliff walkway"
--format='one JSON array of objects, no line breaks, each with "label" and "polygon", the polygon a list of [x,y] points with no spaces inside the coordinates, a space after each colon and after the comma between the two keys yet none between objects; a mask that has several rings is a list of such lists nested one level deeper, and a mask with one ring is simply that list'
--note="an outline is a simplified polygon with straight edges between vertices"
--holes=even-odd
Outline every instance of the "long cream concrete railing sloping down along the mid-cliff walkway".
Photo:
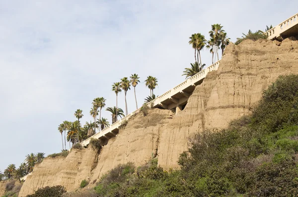
[{"label": "long cream concrete railing sloping down along the mid-cliff walkway", "polygon": [[[181,92],[182,90],[184,90],[185,88],[194,85],[196,82],[200,81],[201,79],[204,79],[207,75],[208,72],[210,71],[214,71],[217,70],[219,68],[220,65],[220,61],[212,64],[211,66],[207,67],[206,69],[202,70],[201,72],[197,73],[196,75],[190,77],[189,79],[185,80],[184,82],[182,82],[181,84],[179,84],[178,86],[174,87],[173,89],[167,91],[166,93],[164,93],[163,95],[157,97],[156,99],[150,101],[148,103],[148,105],[153,105],[153,107],[157,106],[158,104],[160,104],[162,101],[169,99],[171,96]],[[123,121],[128,120],[132,115],[138,113],[140,111],[141,108],[137,109],[136,111],[128,114],[127,116],[125,116],[124,118],[122,118],[121,120],[118,120],[117,122],[113,123],[112,125],[110,125],[107,128],[104,128],[103,130],[101,130],[100,132],[98,132],[97,134],[94,134],[93,136],[91,136],[90,138],[84,140],[83,142],[81,142],[80,144],[84,147],[87,146],[91,140],[91,138],[96,138],[99,139],[100,137],[106,135],[107,133],[110,133],[111,131],[119,128]]]}]

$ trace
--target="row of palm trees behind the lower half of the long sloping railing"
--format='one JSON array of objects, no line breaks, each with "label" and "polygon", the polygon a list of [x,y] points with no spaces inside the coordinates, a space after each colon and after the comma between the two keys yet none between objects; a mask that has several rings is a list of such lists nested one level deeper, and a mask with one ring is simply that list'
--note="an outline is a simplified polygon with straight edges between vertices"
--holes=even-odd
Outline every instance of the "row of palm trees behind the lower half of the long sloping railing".
[{"label": "row of palm trees behind the lower half of the long sloping railing", "polygon": [[[138,109],[138,102],[137,102],[137,95],[136,95],[136,86],[140,83],[140,77],[138,74],[132,74],[130,76],[130,79],[128,77],[124,77],[121,79],[120,82],[116,82],[112,84],[112,91],[116,94],[116,106],[114,107],[107,107],[106,111],[109,111],[112,113],[112,124],[117,121],[118,117],[122,117],[125,115],[128,115],[128,106],[127,106],[127,100],[126,95],[128,90],[131,89],[131,86],[134,87],[134,94],[135,94],[135,100],[136,100],[136,108]],[[153,90],[157,86],[157,79],[152,76],[148,76],[145,80],[146,86],[150,90],[150,98],[155,98],[155,95],[153,94]],[[125,115],[124,111],[118,107],[118,94],[120,92],[124,91],[124,99],[125,99]],[[148,100],[146,98],[145,100]],[[99,128],[99,130],[103,130],[105,127],[108,127],[110,124],[106,118],[101,117],[101,111],[105,107],[106,99],[103,97],[95,98],[92,101],[92,106],[90,109],[90,116],[93,118],[93,122],[86,122],[83,127],[80,125],[80,119],[83,117],[82,110],[77,109],[74,112],[74,116],[76,117],[76,120],[74,122],[70,121],[64,121],[62,124],[58,126],[58,130],[61,133],[61,140],[62,140],[62,149],[66,149],[66,141],[69,142],[70,148],[71,143],[75,144],[78,142],[82,142],[83,140],[89,138],[90,136],[94,135],[96,133],[96,128]],[[97,116],[99,114],[99,119],[97,119]],[[64,133],[64,138],[63,138]]]}]

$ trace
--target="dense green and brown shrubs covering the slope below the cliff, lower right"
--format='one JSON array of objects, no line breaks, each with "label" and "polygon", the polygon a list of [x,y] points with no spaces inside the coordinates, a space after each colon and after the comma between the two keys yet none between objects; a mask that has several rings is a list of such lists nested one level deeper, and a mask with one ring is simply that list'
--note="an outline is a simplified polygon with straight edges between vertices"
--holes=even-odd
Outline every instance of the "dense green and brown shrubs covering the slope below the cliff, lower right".
[{"label": "dense green and brown shrubs covering the slope below the cliff, lower right", "polygon": [[250,116],[206,131],[163,171],[156,159],[111,170],[95,187],[101,197],[282,197],[298,194],[298,75],[281,76]]}]

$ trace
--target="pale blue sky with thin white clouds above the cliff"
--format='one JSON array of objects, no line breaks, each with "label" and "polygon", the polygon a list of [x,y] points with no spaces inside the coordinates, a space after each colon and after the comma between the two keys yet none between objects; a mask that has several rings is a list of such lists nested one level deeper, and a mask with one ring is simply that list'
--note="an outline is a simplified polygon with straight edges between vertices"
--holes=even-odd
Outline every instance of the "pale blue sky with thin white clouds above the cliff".
[{"label": "pale blue sky with thin white clouds above the cliff", "polygon": [[[138,105],[149,95],[144,81],[158,79],[155,95],[185,80],[194,60],[193,33],[209,38],[224,26],[232,42],[248,30],[265,30],[297,13],[297,0],[0,0],[0,170],[31,152],[60,152],[58,125],[90,122],[91,103],[116,105],[112,84],[138,74]],[[202,51],[202,62],[212,55]],[[133,89],[129,113],[136,110]],[[118,106],[125,109],[124,93]],[[111,114],[102,111],[111,123]]]}]

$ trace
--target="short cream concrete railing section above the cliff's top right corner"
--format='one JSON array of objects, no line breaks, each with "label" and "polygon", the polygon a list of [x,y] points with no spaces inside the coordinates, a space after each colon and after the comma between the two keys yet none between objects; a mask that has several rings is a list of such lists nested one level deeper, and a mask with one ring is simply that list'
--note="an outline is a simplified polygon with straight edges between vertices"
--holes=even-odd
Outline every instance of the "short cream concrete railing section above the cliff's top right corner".
[{"label": "short cream concrete railing section above the cliff's top right corner", "polygon": [[282,34],[286,30],[288,30],[289,28],[291,28],[291,27],[293,27],[294,25],[297,25],[297,24],[298,24],[298,13],[295,14],[294,16],[288,18],[284,22],[280,23],[279,25],[271,28],[270,30],[268,30],[264,34],[267,34],[268,39],[273,39],[275,37],[277,38],[277,37],[280,36],[280,34]]}]

